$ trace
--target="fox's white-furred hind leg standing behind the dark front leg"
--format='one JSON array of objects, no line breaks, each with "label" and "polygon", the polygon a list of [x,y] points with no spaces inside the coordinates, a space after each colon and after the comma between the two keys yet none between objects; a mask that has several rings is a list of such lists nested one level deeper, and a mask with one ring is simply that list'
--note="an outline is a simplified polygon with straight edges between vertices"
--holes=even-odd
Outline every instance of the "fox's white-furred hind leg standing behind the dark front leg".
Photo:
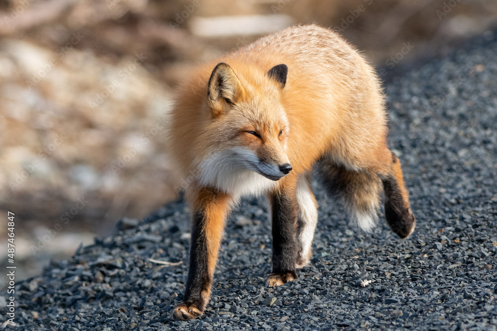
[{"label": "fox's white-furred hind leg standing behind the dark front leg", "polygon": [[301,268],[309,264],[311,246],[318,223],[318,204],[311,190],[309,175],[298,179],[297,190],[297,261],[295,266]]}]

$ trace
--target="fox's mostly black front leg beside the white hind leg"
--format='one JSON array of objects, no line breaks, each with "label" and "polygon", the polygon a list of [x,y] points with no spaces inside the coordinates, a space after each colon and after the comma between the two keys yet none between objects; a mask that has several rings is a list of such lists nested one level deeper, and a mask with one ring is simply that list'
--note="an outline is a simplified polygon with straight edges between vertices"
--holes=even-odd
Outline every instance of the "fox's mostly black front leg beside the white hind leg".
[{"label": "fox's mostly black front leg beside the white hind leg", "polygon": [[295,223],[297,220],[295,186],[279,188],[269,194],[273,236],[272,272],[266,286],[279,286],[297,278],[295,259],[297,245]]}]

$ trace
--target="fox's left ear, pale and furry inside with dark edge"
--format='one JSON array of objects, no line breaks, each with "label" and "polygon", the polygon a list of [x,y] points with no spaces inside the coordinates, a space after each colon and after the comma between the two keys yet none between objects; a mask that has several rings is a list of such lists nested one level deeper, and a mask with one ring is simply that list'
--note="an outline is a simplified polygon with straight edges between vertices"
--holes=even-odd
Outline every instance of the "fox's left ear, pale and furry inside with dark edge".
[{"label": "fox's left ear, pale and furry inside with dark edge", "polygon": [[207,90],[207,104],[212,110],[212,115],[221,115],[243,92],[242,83],[231,66],[223,62],[218,64],[212,70]]}]

